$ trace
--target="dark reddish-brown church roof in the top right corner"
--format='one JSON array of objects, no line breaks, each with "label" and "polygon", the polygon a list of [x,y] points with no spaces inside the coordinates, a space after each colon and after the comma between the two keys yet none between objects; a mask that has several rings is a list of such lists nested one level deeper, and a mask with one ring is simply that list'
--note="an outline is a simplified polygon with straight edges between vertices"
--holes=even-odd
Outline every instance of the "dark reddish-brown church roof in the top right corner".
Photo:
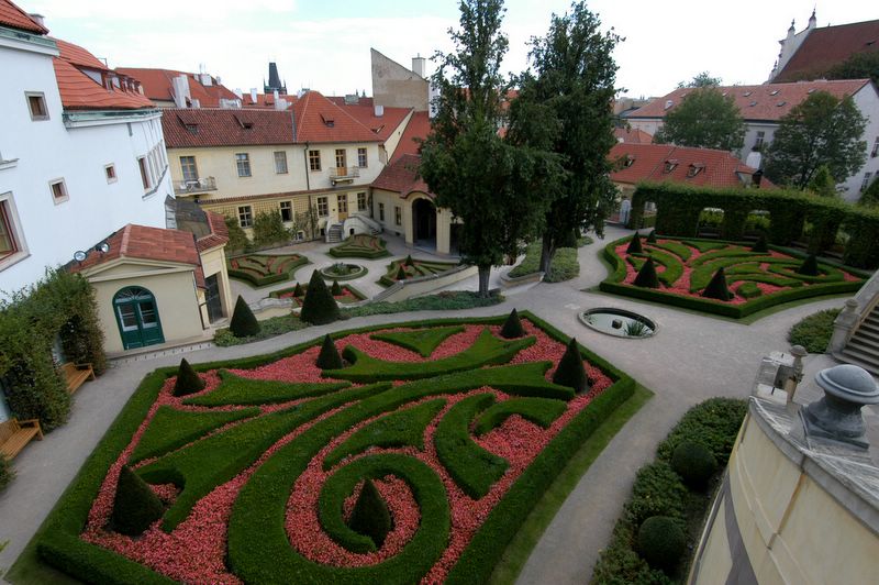
[{"label": "dark reddish-brown church roof in the top right corner", "polygon": [[852,55],[872,51],[879,51],[879,20],[815,29],[772,81],[823,77]]}]

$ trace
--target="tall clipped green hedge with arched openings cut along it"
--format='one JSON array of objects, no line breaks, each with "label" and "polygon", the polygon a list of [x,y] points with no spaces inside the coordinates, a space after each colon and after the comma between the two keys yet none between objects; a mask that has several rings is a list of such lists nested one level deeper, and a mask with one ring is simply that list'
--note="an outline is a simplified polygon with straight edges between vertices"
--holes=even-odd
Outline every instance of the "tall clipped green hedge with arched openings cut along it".
[{"label": "tall clipped green hedge with arched openings cut along it", "polygon": [[812,224],[809,252],[821,254],[843,230],[848,242],[843,262],[859,268],[879,267],[879,210],[856,207],[833,198],[782,189],[711,189],[687,185],[641,184],[632,197],[630,224],[638,225],[647,202],[656,203],[656,231],[663,235],[692,238],[705,208],[723,209],[721,238],[741,240],[752,211],[769,212],[769,241],[790,245],[799,240],[805,222]]}]

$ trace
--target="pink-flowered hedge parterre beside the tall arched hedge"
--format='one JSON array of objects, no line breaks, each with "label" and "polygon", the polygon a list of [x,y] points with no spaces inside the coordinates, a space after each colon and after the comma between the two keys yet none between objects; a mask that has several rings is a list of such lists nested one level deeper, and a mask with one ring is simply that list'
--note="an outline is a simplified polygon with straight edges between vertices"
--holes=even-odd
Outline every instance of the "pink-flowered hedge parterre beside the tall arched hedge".
[{"label": "pink-flowered hedge parterre beside the tall arched hedge", "polygon": [[[860,271],[821,262],[817,276],[799,274],[805,256],[769,246],[754,252],[748,244],[716,240],[658,238],[642,242],[642,253],[626,251],[631,238],[611,242],[604,249],[613,273],[600,285],[605,292],[696,309],[735,319],[783,302],[854,292],[864,284]],[[653,260],[658,288],[634,285],[647,258]],[[702,296],[714,274],[723,268],[730,300]]]}]

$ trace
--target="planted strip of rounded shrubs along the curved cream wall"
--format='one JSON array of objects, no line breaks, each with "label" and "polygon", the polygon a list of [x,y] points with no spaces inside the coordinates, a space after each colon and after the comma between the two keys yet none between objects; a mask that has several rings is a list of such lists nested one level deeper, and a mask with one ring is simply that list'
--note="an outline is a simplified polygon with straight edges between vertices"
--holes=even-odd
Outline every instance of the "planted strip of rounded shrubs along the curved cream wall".
[{"label": "planted strip of rounded shrubs along the curved cream wall", "polygon": [[[686,582],[690,556],[676,555],[685,552],[685,543],[691,544],[690,554],[696,550],[746,411],[745,400],[711,398],[683,415],[659,443],[656,461],[635,476],[611,542],[596,563],[593,584]],[[663,525],[664,530],[656,538],[645,523]],[[675,534],[683,536],[678,551],[669,545]]]}]

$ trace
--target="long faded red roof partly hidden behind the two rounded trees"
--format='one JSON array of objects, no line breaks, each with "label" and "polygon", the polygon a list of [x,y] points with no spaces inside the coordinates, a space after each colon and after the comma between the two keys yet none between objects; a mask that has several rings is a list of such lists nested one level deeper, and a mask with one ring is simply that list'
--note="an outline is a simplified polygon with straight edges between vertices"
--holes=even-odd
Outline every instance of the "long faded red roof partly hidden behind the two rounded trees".
[{"label": "long faded red roof partly hidden behind the two rounded trees", "polygon": [[[812,91],[826,91],[837,98],[853,96],[869,79],[844,79],[836,81],[817,80],[797,84],[764,84],[759,86],[724,86],[717,89],[733,97],[742,118],[754,121],[777,122],[798,103],[805,100]],[[671,93],[652,101],[647,106],[626,115],[631,119],[660,119],[683,101],[693,88],[676,89]],[[666,109],[666,103],[671,107]]]}]

